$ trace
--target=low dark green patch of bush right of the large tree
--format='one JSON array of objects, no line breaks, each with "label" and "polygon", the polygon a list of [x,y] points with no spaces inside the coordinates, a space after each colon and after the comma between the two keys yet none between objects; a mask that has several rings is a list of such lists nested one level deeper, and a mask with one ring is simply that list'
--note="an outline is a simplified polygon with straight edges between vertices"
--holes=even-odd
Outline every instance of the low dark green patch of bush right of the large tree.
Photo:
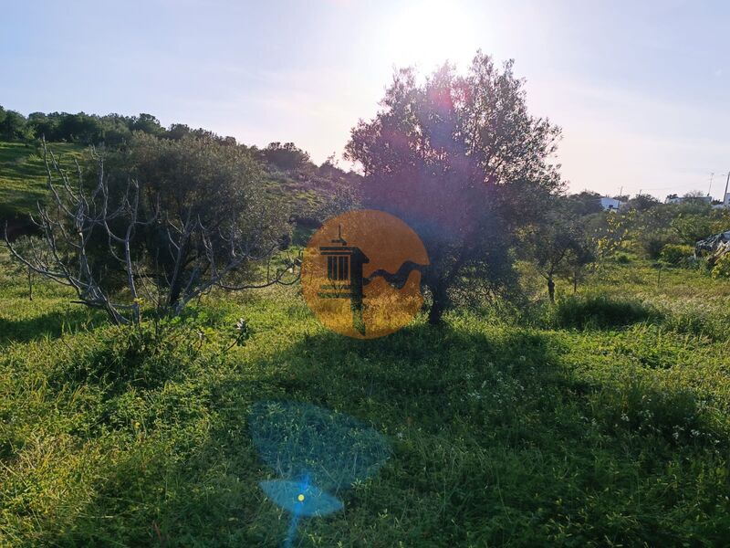
[{"label": "low dark green patch of bush right of the large tree", "polygon": [[658,318],[659,312],[641,300],[617,300],[606,296],[570,296],[552,311],[556,327],[620,327]]}]

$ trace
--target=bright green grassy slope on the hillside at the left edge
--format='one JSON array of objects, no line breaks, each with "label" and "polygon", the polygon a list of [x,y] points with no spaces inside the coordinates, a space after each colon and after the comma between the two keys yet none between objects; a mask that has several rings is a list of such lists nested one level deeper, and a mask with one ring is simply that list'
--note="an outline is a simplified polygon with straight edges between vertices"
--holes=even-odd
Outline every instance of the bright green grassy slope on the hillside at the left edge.
[{"label": "bright green grassy slope on the hillside at the left edge", "polygon": [[[83,147],[54,142],[48,148],[61,165],[72,166]],[[33,144],[0,142],[0,220],[23,219],[36,211],[47,195],[47,174],[42,151]]]}]

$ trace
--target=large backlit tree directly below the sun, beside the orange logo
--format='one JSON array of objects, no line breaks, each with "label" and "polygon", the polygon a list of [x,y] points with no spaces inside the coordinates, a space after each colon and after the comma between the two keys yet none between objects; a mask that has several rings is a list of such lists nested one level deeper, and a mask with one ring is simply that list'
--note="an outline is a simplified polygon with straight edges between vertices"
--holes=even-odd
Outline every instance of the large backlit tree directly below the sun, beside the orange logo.
[{"label": "large backlit tree directly below the sun, beside the orange logo", "polygon": [[512,62],[500,70],[481,52],[466,75],[444,65],[418,84],[403,69],[352,130],[366,204],[401,217],[428,250],[432,323],[455,297],[514,287],[515,229],[560,184],[548,162],[559,130],[529,115],[523,85]]}]

